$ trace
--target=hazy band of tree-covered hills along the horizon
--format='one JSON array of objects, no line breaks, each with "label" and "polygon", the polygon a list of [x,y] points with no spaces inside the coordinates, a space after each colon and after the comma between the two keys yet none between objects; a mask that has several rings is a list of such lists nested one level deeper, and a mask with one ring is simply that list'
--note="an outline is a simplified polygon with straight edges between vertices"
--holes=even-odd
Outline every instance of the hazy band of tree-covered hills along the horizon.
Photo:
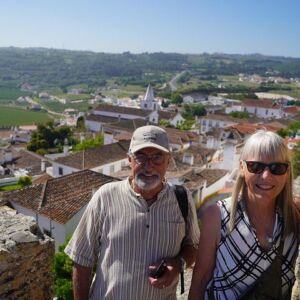
[{"label": "hazy band of tree-covered hills along the horizon", "polygon": [[[149,77],[159,78],[157,82],[162,82],[159,74],[182,70],[196,71],[203,78],[238,73],[300,77],[300,58],[161,52],[110,54],[46,48],[0,48],[0,86],[6,87],[26,82],[64,90],[78,84],[102,86],[111,78],[119,78],[120,82],[127,84],[142,84],[149,82]],[[185,77],[181,80],[186,80]]]}]

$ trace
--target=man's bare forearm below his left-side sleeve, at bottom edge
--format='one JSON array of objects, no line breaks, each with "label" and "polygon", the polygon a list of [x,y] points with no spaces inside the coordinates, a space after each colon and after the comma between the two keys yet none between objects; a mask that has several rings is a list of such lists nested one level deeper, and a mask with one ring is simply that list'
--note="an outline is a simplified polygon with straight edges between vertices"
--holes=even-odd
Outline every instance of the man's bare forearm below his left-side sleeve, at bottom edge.
[{"label": "man's bare forearm below his left-side sleeve, at bottom edge", "polygon": [[92,268],[74,263],[73,267],[73,293],[74,300],[88,300],[91,285]]}]

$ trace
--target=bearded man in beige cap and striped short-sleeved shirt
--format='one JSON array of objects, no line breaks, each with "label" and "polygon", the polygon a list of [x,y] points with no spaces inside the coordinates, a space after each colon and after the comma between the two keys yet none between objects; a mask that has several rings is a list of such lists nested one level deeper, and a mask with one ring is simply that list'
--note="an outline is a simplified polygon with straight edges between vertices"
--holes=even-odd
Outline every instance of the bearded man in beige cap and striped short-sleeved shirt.
[{"label": "bearded man in beige cap and striped short-sleeved shirt", "polygon": [[[65,252],[74,261],[75,299],[176,299],[178,274],[195,260],[199,228],[189,197],[183,218],[174,187],[166,132],[138,128],[128,160],[131,176],[102,186]],[[164,272],[153,271],[164,260]],[[94,266],[95,276],[91,284]]]}]

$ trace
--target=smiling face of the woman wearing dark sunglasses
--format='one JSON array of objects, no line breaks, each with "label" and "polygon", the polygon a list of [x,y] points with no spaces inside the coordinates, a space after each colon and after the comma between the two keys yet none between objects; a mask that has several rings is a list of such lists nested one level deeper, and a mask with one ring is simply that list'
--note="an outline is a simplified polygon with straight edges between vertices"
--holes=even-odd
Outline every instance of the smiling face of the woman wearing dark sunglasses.
[{"label": "smiling face of the woman wearing dark sunglasses", "polygon": [[[255,158],[250,157],[247,159],[247,161],[256,161],[256,162],[262,162],[264,164],[271,164],[271,163],[285,163],[280,160],[270,160],[270,159],[264,159],[264,158]],[[245,177],[245,182],[247,185],[247,195],[249,199],[253,200],[270,200],[275,201],[276,197],[279,195],[279,193],[284,188],[284,185],[287,182],[288,179],[288,172],[289,167],[287,168],[287,171],[282,175],[275,175],[270,172],[270,168],[275,169],[278,166],[271,165],[268,167],[265,167],[263,171],[260,170],[259,174],[249,172],[248,168],[251,170],[251,166],[247,167],[247,163],[245,161],[240,161],[240,169],[241,174]],[[283,166],[281,166],[283,167]],[[261,167],[262,169],[263,167]],[[255,169],[255,168],[254,168]],[[284,169],[284,167],[283,167]],[[281,173],[281,172],[280,172]]]}]

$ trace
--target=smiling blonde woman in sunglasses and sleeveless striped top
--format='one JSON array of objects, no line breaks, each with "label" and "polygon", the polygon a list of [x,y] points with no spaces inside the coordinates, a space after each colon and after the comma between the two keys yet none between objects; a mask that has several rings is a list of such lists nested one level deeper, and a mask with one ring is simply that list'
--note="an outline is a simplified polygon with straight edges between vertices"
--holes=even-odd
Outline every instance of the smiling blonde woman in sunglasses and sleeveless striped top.
[{"label": "smiling blonde woman in sunglasses and sleeveless striped top", "polygon": [[241,153],[231,199],[204,212],[189,300],[248,299],[254,290],[272,294],[263,299],[289,299],[299,222],[292,189],[284,140],[254,133]]}]

